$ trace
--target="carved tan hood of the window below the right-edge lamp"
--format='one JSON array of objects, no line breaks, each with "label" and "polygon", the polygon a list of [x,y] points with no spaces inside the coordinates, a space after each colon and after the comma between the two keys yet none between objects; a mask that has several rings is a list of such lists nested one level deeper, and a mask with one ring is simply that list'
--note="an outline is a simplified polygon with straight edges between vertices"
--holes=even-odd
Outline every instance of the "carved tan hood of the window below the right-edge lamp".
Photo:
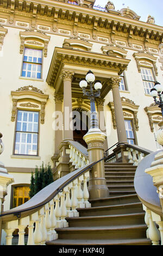
[{"label": "carved tan hood of the window below the right-edge lamp", "polygon": [[154,122],[159,123],[162,120],[162,115],[160,108],[155,103],[152,103],[149,107],[144,108],[149,119],[149,125],[151,127],[151,132],[154,132]]}]

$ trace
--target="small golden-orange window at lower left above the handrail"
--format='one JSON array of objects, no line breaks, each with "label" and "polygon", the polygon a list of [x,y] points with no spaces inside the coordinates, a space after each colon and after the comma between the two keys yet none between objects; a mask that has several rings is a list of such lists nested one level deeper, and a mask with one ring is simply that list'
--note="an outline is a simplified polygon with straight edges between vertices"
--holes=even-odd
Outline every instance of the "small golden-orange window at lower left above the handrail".
[{"label": "small golden-orange window at lower left above the handrail", "polygon": [[14,187],[12,208],[26,203],[29,197],[29,186]]}]

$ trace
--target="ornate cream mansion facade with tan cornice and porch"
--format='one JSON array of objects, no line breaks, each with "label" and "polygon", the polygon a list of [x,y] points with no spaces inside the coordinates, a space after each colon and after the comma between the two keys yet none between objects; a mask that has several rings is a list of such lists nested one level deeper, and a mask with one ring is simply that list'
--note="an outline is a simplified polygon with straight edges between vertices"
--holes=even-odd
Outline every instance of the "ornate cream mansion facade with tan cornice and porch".
[{"label": "ornate cream mansion facade with tan cornice and porch", "polygon": [[[129,8],[116,11],[110,1],[105,9],[93,5],[0,1],[1,160],[14,178],[4,210],[29,199],[31,173],[42,162],[51,164],[55,179],[70,172],[70,151],[64,148],[65,158],[60,151],[66,140],[85,145],[90,101],[79,81],[89,70],[103,85],[96,111],[105,150],[117,142],[160,149],[155,133],[162,115],[150,90],[163,83],[163,28]],[[77,112],[84,129],[70,129]]]}]

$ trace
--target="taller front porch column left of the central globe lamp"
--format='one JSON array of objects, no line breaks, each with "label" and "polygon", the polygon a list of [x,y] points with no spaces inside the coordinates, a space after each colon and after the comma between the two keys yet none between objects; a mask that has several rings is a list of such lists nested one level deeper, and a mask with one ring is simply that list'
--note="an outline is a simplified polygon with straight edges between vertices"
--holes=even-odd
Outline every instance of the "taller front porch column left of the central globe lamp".
[{"label": "taller front porch column left of the central globe lamp", "polygon": [[64,80],[64,140],[73,139],[72,125],[72,92],[71,81],[74,73],[63,70],[62,77]]}]

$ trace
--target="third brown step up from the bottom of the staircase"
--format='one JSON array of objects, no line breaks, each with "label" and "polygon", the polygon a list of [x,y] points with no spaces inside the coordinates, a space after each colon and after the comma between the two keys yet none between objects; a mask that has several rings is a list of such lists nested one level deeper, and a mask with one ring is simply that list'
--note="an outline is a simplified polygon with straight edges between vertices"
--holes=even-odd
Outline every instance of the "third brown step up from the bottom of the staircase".
[{"label": "third brown step up from the bottom of the staircase", "polygon": [[69,227],[113,227],[145,224],[145,213],[66,218]]}]

